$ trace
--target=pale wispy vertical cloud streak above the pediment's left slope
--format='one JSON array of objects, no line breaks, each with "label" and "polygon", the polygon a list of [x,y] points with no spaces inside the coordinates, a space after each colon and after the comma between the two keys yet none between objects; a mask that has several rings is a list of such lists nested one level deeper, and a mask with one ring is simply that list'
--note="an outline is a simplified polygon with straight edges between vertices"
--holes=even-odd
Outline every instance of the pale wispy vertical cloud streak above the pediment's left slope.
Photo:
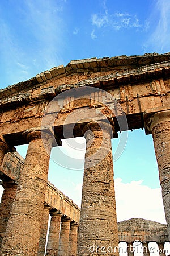
[{"label": "pale wispy vertical cloud streak above the pediment's left slope", "polygon": [[63,2],[42,2],[30,0],[25,2],[25,23],[35,42],[40,46],[37,58],[41,58],[47,66],[61,64],[63,46],[64,21],[62,19]]}]

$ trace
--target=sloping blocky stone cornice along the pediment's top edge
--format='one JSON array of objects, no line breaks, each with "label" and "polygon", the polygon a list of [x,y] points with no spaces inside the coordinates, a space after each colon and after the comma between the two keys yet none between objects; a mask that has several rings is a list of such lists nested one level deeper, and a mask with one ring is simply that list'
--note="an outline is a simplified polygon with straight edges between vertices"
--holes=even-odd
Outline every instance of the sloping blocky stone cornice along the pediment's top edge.
[{"label": "sloping blocky stone cornice along the pediment's top edge", "polygon": [[[167,68],[169,66],[170,53],[159,55],[158,53],[146,53],[143,56],[116,56],[116,57],[104,57],[97,59],[96,57],[83,60],[72,60],[64,67],[59,65],[58,67],[51,68],[50,71],[44,71],[32,77],[31,79],[19,82],[18,84],[8,86],[5,89],[0,90],[0,98],[5,98],[11,94],[16,94],[19,90],[28,90],[32,86],[36,89],[38,84],[46,84],[47,80],[59,79],[61,77],[69,76],[74,73],[84,72],[100,72],[107,71],[107,69],[115,69],[116,73],[114,77],[129,75],[130,73],[140,73],[146,71],[155,71],[158,68]],[[124,71],[119,73],[118,70]],[[90,81],[85,82],[89,84]],[[29,97],[29,94],[27,95]]]}]

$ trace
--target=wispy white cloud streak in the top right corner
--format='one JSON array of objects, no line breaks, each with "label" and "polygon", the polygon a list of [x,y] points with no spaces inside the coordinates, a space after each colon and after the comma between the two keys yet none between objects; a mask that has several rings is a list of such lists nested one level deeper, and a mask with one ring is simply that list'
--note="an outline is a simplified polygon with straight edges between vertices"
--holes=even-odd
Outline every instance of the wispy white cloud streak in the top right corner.
[{"label": "wispy white cloud streak in the top right corner", "polygon": [[168,52],[170,45],[170,1],[156,0],[153,1],[152,5],[153,11],[150,15],[152,31],[143,48],[146,51],[152,49],[158,53]]}]

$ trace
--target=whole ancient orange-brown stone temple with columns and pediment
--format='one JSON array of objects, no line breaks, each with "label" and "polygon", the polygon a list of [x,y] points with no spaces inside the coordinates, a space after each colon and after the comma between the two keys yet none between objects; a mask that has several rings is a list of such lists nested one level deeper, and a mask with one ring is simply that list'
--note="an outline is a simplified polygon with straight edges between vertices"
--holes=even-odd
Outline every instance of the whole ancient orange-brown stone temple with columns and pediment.
[{"label": "whole ancient orange-brown stone temple with columns and pediment", "polygon": [[[170,53],[152,53],[70,61],[0,91],[1,256],[44,255],[49,214],[46,255],[116,256],[120,241],[130,248],[135,240],[145,253],[149,241],[163,250],[170,238],[169,83]],[[140,128],[153,137],[167,226],[117,224],[111,139]],[[48,182],[48,166],[52,147],[81,136],[79,209]],[[29,144],[25,160],[15,152],[21,144]]]}]

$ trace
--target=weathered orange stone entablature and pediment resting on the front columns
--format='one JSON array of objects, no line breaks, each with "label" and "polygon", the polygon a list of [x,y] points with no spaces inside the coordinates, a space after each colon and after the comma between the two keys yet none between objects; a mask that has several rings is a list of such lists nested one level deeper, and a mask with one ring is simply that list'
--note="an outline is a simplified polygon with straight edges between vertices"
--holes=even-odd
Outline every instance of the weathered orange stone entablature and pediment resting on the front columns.
[{"label": "weathered orange stone entablature and pediment resting on the front columns", "polygon": [[[154,109],[155,112],[169,109],[169,56],[170,53],[163,55],[153,53],[144,56],[92,59],[89,60],[88,70],[81,69],[75,64],[76,61],[73,61],[71,73],[66,72],[62,77],[55,76],[40,83],[34,77],[2,89],[0,90],[0,108],[2,106],[0,134],[13,145],[27,143],[23,137],[23,131],[41,126],[42,117],[50,100],[70,88],[86,88],[86,86],[105,90],[118,101],[127,114],[129,130],[143,128],[145,127],[143,113],[146,109]],[[82,60],[82,63],[88,63],[88,59]],[[83,102],[73,96],[71,104],[63,105],[63,109],[55,109],[56,112],[59,111],[54,123],[59,139],[63,138],[62,126],[69,112],[87,106],[105,113],[105,106],[101,102],[95,104],[95,101],[100,101],[99,96],[91,93],[87,97],[89,100]],[[63,103],[65,104],[66,100]],[[114,106],[112,107],[114,109]],[[115,116],[111,113],[105,115],[109,121],[113,119],[116,132],[119,131],[120,127]],[[118,112],[118,115],[121,113]],[[95,116],[92,118],[97,119]],[[86,123],[82,121],[82,126]],[[82,136],[82,132],[76,125],[75,133],[77,137]]]}]

